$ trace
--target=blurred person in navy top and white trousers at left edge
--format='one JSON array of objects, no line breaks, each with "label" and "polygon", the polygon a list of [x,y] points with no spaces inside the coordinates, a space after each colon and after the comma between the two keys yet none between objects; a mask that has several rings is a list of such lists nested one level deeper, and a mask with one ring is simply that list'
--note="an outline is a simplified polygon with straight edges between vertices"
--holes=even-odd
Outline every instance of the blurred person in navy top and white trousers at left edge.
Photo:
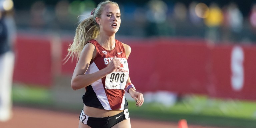
[{"label": "blurred person in navy top and white trousers at left edge", "polygon": [[11,88],[14,68],[16,27],[13,18],[13,1],[0,0],[0,121],[12,115]]}]

